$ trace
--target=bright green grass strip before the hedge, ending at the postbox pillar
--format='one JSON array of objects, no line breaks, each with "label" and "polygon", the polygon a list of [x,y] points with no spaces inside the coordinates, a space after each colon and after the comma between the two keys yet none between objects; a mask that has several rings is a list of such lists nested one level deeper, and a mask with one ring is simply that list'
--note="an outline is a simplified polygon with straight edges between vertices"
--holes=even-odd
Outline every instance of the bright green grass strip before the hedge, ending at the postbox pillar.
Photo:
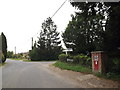
[{"label": "bright green grass strip before the hedge, ending at the postbox pillar", "polygon": [[68,64],[60,61],[57,61],[53,65],[61,69],[67,69],[67,70],[72,70],[76,72],[92,73],[92,70],[90,68],[81,66],[81,65]]}]

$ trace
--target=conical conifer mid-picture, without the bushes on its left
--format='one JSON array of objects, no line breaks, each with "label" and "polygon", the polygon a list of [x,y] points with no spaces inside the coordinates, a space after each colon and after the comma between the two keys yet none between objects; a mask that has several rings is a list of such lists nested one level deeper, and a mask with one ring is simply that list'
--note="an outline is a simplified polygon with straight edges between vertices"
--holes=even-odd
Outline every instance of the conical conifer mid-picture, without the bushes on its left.
[{"label": "conical conifer mid-picture, without the bushes on its left", "polygon": [[57,26],[50,17],[42,23],[42,30],[37,46],[46,55],[45,59],[47,60],[57,59],[61,50],[61,41],[59,33],[56,30]]}]

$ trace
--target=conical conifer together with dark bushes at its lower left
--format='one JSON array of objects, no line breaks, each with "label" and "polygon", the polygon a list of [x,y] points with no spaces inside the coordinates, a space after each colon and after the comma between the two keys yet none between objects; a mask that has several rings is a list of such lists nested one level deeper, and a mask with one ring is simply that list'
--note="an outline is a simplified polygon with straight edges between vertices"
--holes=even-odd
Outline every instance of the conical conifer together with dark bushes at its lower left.
[{"label": "conical conifer together with dark bushes at its lower left", "polygon": [[57,26],[49,17],[42,23],[42,30],[30,51],[31,60],[55,60],[61,52],[59,33]]}]

